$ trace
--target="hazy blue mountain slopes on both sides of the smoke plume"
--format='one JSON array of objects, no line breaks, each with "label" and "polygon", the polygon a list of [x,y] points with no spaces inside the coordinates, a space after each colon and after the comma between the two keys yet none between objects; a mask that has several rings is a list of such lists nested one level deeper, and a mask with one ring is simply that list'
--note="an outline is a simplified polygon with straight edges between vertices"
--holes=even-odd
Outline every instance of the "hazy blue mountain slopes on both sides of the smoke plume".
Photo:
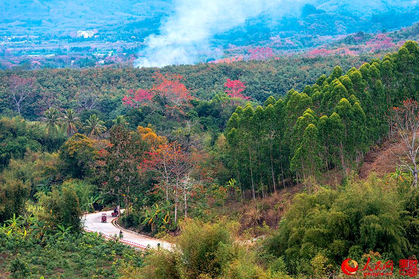
[{"label": "hazy blue mountain slopes on both sides of the smoke plume", "polygon": [[[367,23],[374,22],[375,24],[371,26],[372,28],[389,28],[385,26],[386,21],[381,20],[381,14],[385,15],[385,13],[391,11],[392,15],[397,17],[397,14],[409,13],[415,10],[417,15],[417,9],[415,9],[417,6],[415,1],[400,0],[356,0],[355,2],[348,0],[297,1],[293,7],[287,6],[284,20],[279,20],[282,17],[282,12],[279,9],[281,6],[278,4],[276,6],[277,10],[272,9],[261,13],[261,15],[255,18],[249,18],[247,24],[259,22],[259,24],[273,30],[293,31],[306,27],[305,24],[297,24],[295,26],[295,24],[290,23],[291,20],[295,19],[302,20],[303,23],[309,22],[312,24],[317,20],[320,20],[321,24],[327,22],[327,19],[330,22],[348,20],[350,26],[347,29],[350,29],[348,31],[352,32],[351,27],[353,25],[359,29],[368,27]],[[302,9],[301,7],[305,8]],[[8,33],[6,35],[25,35],[38,32],[65,36],[68,35],[69,31],[82,28],[108,31],[111,29],[110,25],[112,25],[113,29],[115,27],[120,29],[127,24],[140,24],[140,22],[147,19],[160,21],[164,20],[172,11],[173,1],[171,0],[140,2],[137,0],[103,0],[100,2],[82,0],[6,0],[5,4],[0,7],[0,14],[4,15],[0,19],[0,26],[2,33]],[[360,21],[360,23],[356,25],[354,21]],[[246,24],[242,25],[242,28],[246,28]],[[157,32],[158,26],[155,26],[153,29]],[[337,32],[342,31],[338,30]]]}]

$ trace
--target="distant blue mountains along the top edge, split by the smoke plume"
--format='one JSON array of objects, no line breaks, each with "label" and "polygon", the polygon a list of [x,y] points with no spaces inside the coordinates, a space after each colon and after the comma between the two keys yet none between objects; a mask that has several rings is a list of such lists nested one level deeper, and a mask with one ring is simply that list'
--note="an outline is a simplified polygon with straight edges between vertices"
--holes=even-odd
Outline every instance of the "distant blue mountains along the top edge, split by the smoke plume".
[{"label": "distant blue mountains along the top edge, split by the smoke plume", "polygon": [[[177,1],[181,2],[181,1]],[[97,29],[102,32],[132,32],[138,25],[158,24],[173,13],[172,0],[5,0],[0,6],[2,35],[50,34],[67,36],[70,31]],[[255,1],[258,2],[258,1]],[[313,35],[400,28],[419,20],[416,1],[403,0],[317,0],[274,5],[260,15],[248,18],[234,29],[252,33],[302,31]],[[389,16],[391,13],[391,17]],[[398,22],[398,24],[395,24]],[[339,23],[342,28],[331,30]],[[325,27],[313,29],[313,25]],[[128,28],[127,28],[128,27]],[[131,29],[130,29],[131,27]],[[150,31],[150,32],[151,32]],[[240,32],[239,32],[240,33]],[[239,34],[238,33],[238,34]],[[238,37],[234,39],[238,40]]]}]

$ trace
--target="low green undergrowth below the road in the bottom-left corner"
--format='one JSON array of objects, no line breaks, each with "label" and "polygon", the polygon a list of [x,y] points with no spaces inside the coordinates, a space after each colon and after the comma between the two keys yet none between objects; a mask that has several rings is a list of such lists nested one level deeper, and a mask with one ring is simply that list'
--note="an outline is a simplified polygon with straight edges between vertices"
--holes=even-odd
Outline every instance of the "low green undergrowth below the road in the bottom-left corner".
[{"label": "low green undergrowth below the road in the bottom-left corner", "polygon": [[[0,232],[0,273],[11,278],[118,278],[121,264],[142,265],[142,252],[98,234]],[[27,233],[25,235],[25,233]]]}]

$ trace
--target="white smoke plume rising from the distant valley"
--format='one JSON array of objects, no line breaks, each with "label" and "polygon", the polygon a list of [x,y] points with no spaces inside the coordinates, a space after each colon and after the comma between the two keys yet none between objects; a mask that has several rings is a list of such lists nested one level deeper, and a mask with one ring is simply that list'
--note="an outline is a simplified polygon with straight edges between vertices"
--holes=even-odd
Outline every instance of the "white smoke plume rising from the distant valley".
[{"label": "white smoke plume rising from the distant valley", "polygon": [[174,13],[162,23],[159,35],[152,34],[145,39],[146,47],[134,66],[195,63],[200,53],[211,51],[209,41],[215,34],[239,26],[262,12],[271,13],[275,9],[277,14],[281,13],[278,9],[284,2],[291,3],[290,0],[175,0]]}]

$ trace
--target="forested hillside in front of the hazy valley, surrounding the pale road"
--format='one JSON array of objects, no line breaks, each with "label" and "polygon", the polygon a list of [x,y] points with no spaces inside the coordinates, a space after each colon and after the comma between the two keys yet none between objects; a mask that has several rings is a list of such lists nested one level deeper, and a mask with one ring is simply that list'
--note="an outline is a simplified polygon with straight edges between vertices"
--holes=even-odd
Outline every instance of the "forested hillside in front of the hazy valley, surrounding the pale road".
[{"label": "forested hillside in front of the hazy valley, surrounding the pale road", "polygon": [[[2,71],[0,272],[339,278],[348,257],[414,257],[418,180],[387,172],[388,131],[419,127],[419,45],[350,58]],[[176,248],[82,233],[82,212],[117,206],[120,225]]]}]

